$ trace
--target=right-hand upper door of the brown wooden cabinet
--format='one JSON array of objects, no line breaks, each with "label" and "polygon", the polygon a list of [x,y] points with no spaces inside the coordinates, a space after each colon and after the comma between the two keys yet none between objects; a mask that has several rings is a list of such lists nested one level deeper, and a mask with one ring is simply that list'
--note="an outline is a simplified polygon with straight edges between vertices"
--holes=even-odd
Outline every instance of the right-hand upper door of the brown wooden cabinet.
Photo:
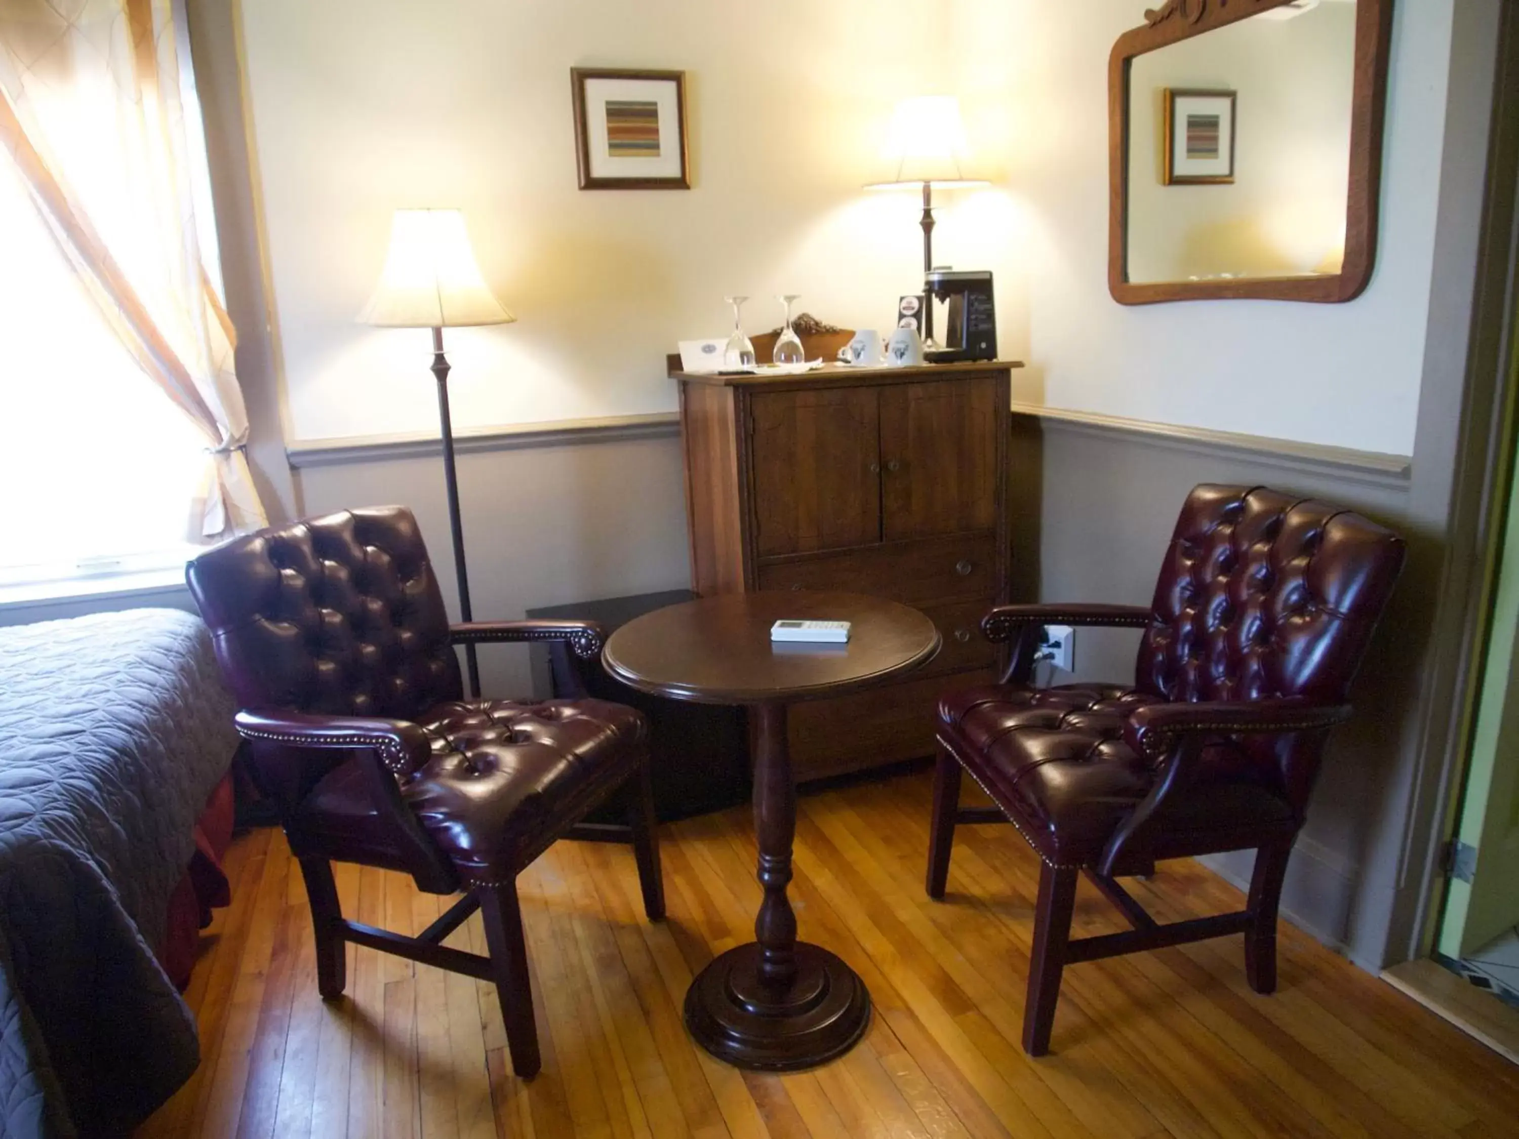
[{"label": "right-hand upper door of the brown wooden cabinet", "polygon": [[995,377],[881,389],[881,528],[887,541],[996,525]]}]

